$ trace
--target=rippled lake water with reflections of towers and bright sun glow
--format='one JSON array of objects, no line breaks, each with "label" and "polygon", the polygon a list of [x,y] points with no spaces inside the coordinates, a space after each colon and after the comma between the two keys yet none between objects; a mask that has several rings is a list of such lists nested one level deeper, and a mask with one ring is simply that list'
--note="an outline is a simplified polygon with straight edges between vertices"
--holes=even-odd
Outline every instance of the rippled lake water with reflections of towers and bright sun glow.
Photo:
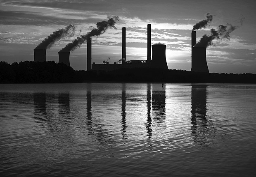
[{"label": "rippled lake water with reflections of towers and bright sun glow", "polygon": [[0,85],[0,176],[256,176],[256,85]]}]

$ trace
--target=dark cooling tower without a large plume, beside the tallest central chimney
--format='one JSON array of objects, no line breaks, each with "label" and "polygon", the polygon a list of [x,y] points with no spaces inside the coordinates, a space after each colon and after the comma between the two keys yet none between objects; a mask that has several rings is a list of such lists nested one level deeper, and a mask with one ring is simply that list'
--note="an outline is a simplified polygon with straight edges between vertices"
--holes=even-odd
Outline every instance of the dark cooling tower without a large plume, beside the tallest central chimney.
[{"label": "dark cooling tower without a large plume, beside the tallest central chimney", "polygon": [[168,69],[166,57],[165,57],[166,45],[154,44],[152,45],[152,62],[151,68]]}]

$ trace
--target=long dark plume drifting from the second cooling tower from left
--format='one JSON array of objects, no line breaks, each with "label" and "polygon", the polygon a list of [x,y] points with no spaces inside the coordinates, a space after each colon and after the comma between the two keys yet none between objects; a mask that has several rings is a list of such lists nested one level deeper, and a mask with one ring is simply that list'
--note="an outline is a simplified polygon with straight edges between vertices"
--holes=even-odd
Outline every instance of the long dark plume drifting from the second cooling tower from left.
[{"label": "long dark plume drifting from the second cooling tower from left", "polygon": [[81,35],[77,37],[75,40],[73,40],[71,43],[67,44],[60,52],[70,52],[74,51],[77,48],[80,48],[81,45],[90,37],[92,36],[99,36],[100,34],[103,34],[108,28],[114,28],[116,21],[119,21],[118,16],[111,16],[107,21],[101,21],[96,24],[97,28],[94,28],[91,32],[88,32],[87,34]]}]

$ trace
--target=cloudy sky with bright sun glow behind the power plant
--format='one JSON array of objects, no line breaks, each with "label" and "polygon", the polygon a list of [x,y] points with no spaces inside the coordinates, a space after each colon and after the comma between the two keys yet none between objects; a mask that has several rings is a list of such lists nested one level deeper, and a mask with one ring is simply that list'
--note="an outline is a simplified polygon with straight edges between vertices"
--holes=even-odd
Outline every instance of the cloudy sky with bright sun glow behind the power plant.
[{"label": "cloudy sky with bright sun glow behind the power plant", "polygon": [[[126,61],[147,60],[147,24],[152,44],[166,44],[169,69],[191,69],[191,31],[206,14],[212,22],[197,32],[197,42],[210,29],[231,23],[230,39],[214,40],[206,51],[211,73],[256,74],[255,0],[0,0],[0,61],[33,61],[33,49],[52,32],[74,25],[66,36],[47,49],[46,60],[58,62],[58,52],[96,23],[119,16],[114,28],[92,37],[92,62],[117,62],[122,57],[122,27],[126,27]],[[243,21],[241,21],[243,19]],[[86,70],[86,43],[70,53],[70,65]]]}]

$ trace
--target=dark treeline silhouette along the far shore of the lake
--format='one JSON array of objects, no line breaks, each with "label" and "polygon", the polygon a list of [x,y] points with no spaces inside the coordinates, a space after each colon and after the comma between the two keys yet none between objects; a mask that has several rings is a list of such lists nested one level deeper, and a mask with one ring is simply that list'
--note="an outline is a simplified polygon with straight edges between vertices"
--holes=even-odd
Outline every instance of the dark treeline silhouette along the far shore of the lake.
[{"label": "dark treeline silhouette along the far shore of the lake", "polygon": [[175,69],[133,68],[114,71],[76,71],[66,64],[0,62],[0,83],[256,83],[256,74],[197,73]]}]

